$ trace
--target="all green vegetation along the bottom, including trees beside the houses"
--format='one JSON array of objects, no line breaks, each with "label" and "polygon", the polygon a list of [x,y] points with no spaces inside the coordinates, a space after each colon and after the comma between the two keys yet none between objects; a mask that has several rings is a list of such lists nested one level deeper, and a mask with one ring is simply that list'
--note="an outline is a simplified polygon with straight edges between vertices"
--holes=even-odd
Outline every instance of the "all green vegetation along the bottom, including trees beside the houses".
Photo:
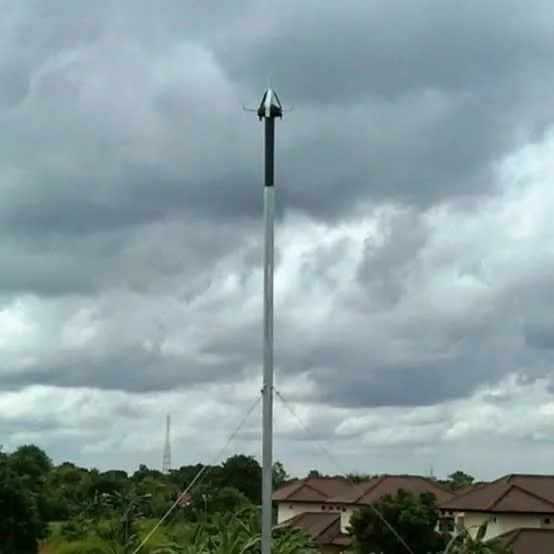
[{"label": "all green vegetation along the bottom, including trees beside the houses", "polygon": [[[183,494],[201,470],[202,478]],[[309,475],[321,476],[316,470]],[[273,478],[275,488],[290,480],[279,462]],[[349,478],[361,482],[370,476]],[[457,471],[444,484],[459,489],[472,481]],[[183,466],[167,475],[141,465],[128,474],[54,465],[43,450],[25,445],[0,452],[0,554],[132,554],[146,538],[145,554],[258,554],[260,500],[261,467],[250,456],[206,468]],[[414,554],[442,552],[447,530],[437,533],[437,522],[432,495],[400,491],[354,515],[353,549],[404,554],[407,543]],[[480,550],[482,541],[462,535],[450,547],[456,553],[495,552],[493,545]],[[302,533],[275,530],[275,553],[313,550]]]}]

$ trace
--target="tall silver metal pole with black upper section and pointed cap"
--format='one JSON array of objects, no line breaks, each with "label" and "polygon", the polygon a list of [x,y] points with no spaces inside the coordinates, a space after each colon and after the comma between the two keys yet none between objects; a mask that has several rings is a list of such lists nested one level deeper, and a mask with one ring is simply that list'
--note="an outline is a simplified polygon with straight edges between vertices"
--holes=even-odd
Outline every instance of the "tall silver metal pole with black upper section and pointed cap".
[{"label": "tall silver metal pole with black upper section and pointed cap", "polygon": [[271,554],[273,528],[273,236],[275,215],[275,119],[283,117],[277,94],[267,89],[258,108],[265,122],[264,318],[262,417],[262,551]]}]

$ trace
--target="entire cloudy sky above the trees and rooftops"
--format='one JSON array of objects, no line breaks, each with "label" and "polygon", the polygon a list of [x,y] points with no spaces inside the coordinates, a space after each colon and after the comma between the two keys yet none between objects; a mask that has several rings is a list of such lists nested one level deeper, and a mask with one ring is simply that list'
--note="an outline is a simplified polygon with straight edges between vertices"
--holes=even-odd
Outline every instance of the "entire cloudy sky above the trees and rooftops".
[{"label": "entire cloudy sky above the trees and rooftops", "polygon": [[[0,0],[0,442],[479,478],[554,461],[547,0]],[[223,458],[258,456],[257,404]],[[317,439],[317,441],[315,440]]]}]

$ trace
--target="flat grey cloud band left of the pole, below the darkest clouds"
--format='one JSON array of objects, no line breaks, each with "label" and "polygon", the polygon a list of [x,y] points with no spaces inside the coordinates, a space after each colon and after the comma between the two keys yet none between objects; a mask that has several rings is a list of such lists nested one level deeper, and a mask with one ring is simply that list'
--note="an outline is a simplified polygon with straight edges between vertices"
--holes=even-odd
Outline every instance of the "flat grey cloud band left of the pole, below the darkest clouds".
[{"label": "flat grey cloud band left of the pole, below the darkest clouds", "polygon": [[222,256],[242,247],[236,255],[245,271],[259,263],[255,246],[244,248],[249,229],[189,216],[69,236],[65,230],[12,230],[0,239],[0,295],[88,296],[110,289],[148,294],[179,280],[182,294],[194,298]]}]

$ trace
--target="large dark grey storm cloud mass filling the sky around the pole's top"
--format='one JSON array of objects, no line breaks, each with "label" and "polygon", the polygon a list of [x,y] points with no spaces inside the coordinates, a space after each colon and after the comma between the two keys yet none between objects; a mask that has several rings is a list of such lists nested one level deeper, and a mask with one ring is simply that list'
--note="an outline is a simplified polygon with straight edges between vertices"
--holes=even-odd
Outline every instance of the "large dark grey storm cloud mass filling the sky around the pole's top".
[{"label": "large dark grey storm cloud mass filling the sky around the pole's top", "polygon": [[[266,5],[53,6],[7,15],[2,60],[21,62],[4,94],[4,228],[258,216],[261,128],[240,107],[258,101],[268,70],[300,103],[280,129],[281,199],[324,218],[367,197],[486,190],[514,128],[547,110],[528,109],[523,80],[549,68],[548,35],[504,4],[287,4],[261,20],[267,33],[253,25]],[[210,48],[239,88],[206,69]]]}]

